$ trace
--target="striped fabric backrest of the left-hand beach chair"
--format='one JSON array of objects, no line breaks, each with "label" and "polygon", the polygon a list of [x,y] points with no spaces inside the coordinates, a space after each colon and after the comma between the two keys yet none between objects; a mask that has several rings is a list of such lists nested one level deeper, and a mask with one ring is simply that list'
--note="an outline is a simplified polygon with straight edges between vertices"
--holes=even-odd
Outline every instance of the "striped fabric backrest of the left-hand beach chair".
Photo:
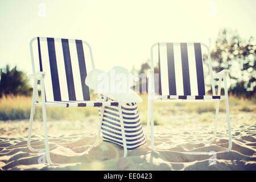
[{"label": "striped fabric backrest of the left-hand beach chair", "polygon": [[[32,43],[37,40],[39,68],[46,72],[44,89],[46,101],[89,101],[89,88],[85,85],[87,75],[85,47],[89,48],[92,69],[92,50],[83,40],[59,38],[34,38],[30,42],[32,70],[35,73]],[[87,60],[88,61],[88,60]]]}]

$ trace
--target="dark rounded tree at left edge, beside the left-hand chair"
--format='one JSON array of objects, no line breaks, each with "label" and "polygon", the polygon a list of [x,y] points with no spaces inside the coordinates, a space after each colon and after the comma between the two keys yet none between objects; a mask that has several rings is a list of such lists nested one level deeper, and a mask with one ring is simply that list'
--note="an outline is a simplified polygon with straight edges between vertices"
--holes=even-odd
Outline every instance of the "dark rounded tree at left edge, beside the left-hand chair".
[{"label": "dark rounded tree at left edge, beside the left-hand chair", "polygon": [[31,96],[32,88],[28,84],[28,77],[16,67],[10,69],[10,66],[6,65],[6,68],[1,69],[0,76],[0,98],[9,94]]}]

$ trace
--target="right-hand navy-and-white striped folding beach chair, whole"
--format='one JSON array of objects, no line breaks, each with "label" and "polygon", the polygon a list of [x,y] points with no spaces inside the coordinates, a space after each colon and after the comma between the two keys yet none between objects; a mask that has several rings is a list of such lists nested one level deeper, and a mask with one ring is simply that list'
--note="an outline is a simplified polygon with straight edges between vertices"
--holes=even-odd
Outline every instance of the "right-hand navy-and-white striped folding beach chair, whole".
[{"label": "right-hand navy-and-white striped folding beach chair, whole", "polygon": [[[205,78],[203,66],[203,54],[201,47],[207,49],[210,84],[212,96],[206,96]],[[155,61],[154,61],[155,60]],[[154,81],[154,62],[158,62],[159,85]],[[212,142],[216,137],[217,118],[221,100],[226,102],[226,118],[228,121],[229,147],[232,148],[232,138],[229,117],[228,88],[226,74],[223,70],[216,75],[212,72],[209,48],[203,43],[156,43],[151,47],[151,69],[148,74],[148,135],[151,133],[151,146],[154,150],[154,101],[155,102],[216,102],[216,115]],[[215,79],[218,79],[217,95]],[[221,96],[221,82],[224,80],[224,96]],[[155,89],[159,90],[156,93]],[[151,131],[150,131],[151,125]]]}]

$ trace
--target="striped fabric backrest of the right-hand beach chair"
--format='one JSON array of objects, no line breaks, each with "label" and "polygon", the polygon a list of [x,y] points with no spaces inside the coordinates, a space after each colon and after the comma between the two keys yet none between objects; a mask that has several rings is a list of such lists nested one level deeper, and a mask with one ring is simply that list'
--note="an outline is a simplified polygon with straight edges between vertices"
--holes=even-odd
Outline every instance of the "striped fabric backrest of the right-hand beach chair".
[{"label": "striped fabric backrest of the right-hand beach chair", "polygon": [[[157,43],[159,95],[204,96],[205,79],[202,43]],[[205,44],[203,44],[205,46]],[[154,68],[151,48],[151,69]],[[207,47],[208,48],[208,47]],[[210,75],[209,49],[208,60]]]}]

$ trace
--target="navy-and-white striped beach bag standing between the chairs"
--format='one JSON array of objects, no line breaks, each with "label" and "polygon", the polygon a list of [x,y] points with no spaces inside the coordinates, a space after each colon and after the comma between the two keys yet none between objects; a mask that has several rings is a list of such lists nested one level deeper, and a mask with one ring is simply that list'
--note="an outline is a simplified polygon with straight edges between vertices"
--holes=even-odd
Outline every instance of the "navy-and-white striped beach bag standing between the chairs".
[{"label": "navy-and-white striped beach bag standing between the chairs", "polygon": [[[108,101],[110,99],[104,97],[104,100]],[[101,107],[99,107],[99,115],[101,117]],[[131,151],[146,144],[137,104],[126,103],[123,105],[122,115],[127,150]],[[105,106],[101,131],[105,142],[112,142],[123,146],[118,106]]]}]

